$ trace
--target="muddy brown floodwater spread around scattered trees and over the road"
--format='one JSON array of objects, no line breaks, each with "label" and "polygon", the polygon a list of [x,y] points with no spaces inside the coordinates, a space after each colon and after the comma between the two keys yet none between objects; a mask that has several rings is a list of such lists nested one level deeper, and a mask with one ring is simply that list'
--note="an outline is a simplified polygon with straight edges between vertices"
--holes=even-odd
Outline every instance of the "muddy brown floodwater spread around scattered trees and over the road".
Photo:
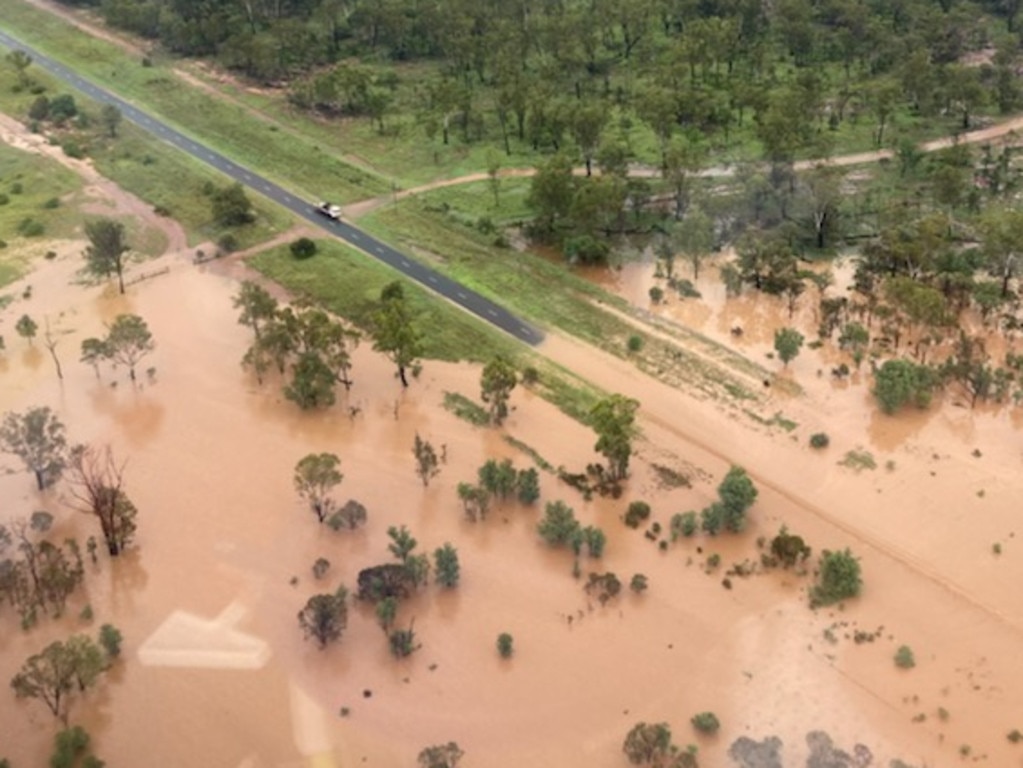
[{"label": "muddy brown floodwater spread around scattered trees and over the road", "polygon": [[[626,590],[602,606],[573,578],[571,556],[538,540],[539,509],[508,504],[471,524],[456,495],[487,458],[529,464],[504,434],[578,470],[596,458],[590,431],[522,391],[503,430],[471,426],[441,402],[448,391],[476,397],[477,367],[431,362],[403,392],[368,345],[339,406],[301,413],[275,382],[258,387],[238,365],[249,331],[231,306],[236,281],[179,252],[135,268],[170,271],[119,297],[74,281],[80,250],[62,244],[56,260],[10,288],[19,296],[31,283],[33,292],[0,314],[8,340],[0,411],[49,405],[73,440],[109,444],[127,459],[138,547],[90,567],[84,593],[60,621],[23,632],[9,611],[0,613],[0,680],[51,639],[118,626],[123,661],[72,711],[107,764],[145,765],[160,755],[169,765],[398,768],[426,746],[455,740],[475,765],[620,768],[622,740],[638,721],[670,723],[678,743],[699,746],[705,766],[728,765],[727,747],[740,735],[777,735],[786,764],[801,765],[814,729],[847,752],[866,744],[875,765],[895,757],[947,765],[966,744],[989,765],[1020,764],[1006,734],[1023,727],[1023,482],[1019,425],[1005,409],[945,402],[876,415],[868,376],[836,386],[827,353],[805,350],[784,372],[765,357],[773,327],[809,322],[811,310],[798,307],[790,320],[781,303],[726,302],[703,280],[704,301],[672,300],[659,312],[792,377],[802,395],[771,388],[760,406],[795,421],[791,433],[551,334],[541,352],[642,404],[625,499],[587,502],[551,476],[541,479],[542,501],[565,500],[608,533],[605,557],[583,559],[584,574],[649,577],[647,593]],[[704,269],[708,281],[712,270]],[[640,299],[647,279],[630,283]],[[158,344],[140,366],[154,370],[137,388],[126,371],[104,368],[97,378],[77,361],[81,340],[125,311],[141,314]],[[60,330],[62,381],[48,356],[33,355],[11,331],[26,312]],[[737,323],[741,337],[729,333]],[[831,447],[811,451],[807,437],[820,431]],[[413,471],[416,434],[444,446],[447,458],[428,488]],[[857,448],[872,452],[876,469],[838,463]],[[342,457],[338,497],[365,504],[365,529],[336,534],[303,508],[292,470],[313,451]],[[641,498],[667,528],[673,513],[713,497],[730,462],[760,489],[743,536],[698,537],[661,551],[621,524],[627,501]],[[662,487],[654,463],[687,469],[694,487]],[[7,459],[4,466],[17,468]],[[25,472],[0,476],[0,516],[45,508],[79,536],[96,533],[65,492],[37,494]],[[731,576],[725,588],[724,572],[757,560],[757,538],[783,524],[815,551],[850,547],[862,560],[861,598],[813,613],[808,579],[777,572]],[[421,551],[451,542],[461,560],[457,589],[431,585],[401,606],[399,624],[414,622],[421,647],[391,658],[371,607],[358,603],[339,644],[320,651],[303,641],[296,615],[305,600],[339,583],[352,587],[361,568],[387,561],[387,529],[401,525]],[[722,566],[706,573],[710,553]],[[330,561],[319,582],[318,557]],[[78,618],[87,603],[91,624]],[[874,640],[855,642],[856,631]],[[496,652],[501,632],[515,637],[510,660]],[[901,644],[915,651],[913,670],[893,664]],[[721,719],[716,737],[688,725],[707,710]],[[0,694],[0,756],[15,768],[45,762],[54,723],[41,705]]]}]

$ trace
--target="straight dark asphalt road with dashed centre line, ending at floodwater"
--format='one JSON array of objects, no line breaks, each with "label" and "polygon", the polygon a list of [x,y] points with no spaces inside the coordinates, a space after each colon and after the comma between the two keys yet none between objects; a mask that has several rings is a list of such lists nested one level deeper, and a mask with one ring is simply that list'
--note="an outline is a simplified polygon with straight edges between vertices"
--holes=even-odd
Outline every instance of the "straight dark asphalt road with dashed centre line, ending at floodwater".
[{"label": "straight dark asphalt road with dashed centre line, ending at floodwater", "polygon": [[[406,277],[415,280],[430,290],[438,293],[454,304],[472,312],[474,315],[486,320],[491,325],[495,325],[503,331],[510,333],[530,345],[537,345],[543,341],[543,333],[539,329],[530,325],[525,320],[517,317],[506,309],[489,299],[480,296],[474,290],[466,288],[461,283],[455,282],[449,277],[436,272],[419,262],[405,256],[400,251],[388,245],[386,242],[377,240],[375,237],[363,232],[358,227],[354,227],[345,221],[333,221],[322,214],[317,213],[315,201],[302,199],[295,196],[286,189],[277,186],[268,179],[263,178],[255,171],[239,166],[237,163],[228,160],[223,154],[201,144],[198,141],[176,131],[158,118],[142,111],[133,106],[128,101],[106,91],[94,83],[86,80],[74,70],[70,70],[63,64],[54,61],[39,51],[26,45],[14,37],[0,31],[0,44],[11,49],[20,49],[32,56],[33,64],[45,70],[54,77],[64,81],[70,86],[85,94],[91,99],[103,104],[114,104],[117,106],[125,120],[134,123],[154,136],[163,139],[169,144],[188,152],[196,160],[216,168],[221,173],[229,176],[235,181],[250,189],[259,192],[274,202],[283,206],[297,216],[314,224],[330,234],[354,245],[360,251],[368,254],[374,259],[384,262],[390,267],[398,270]],[[323,198],[329,198],[329,190],[325,190]]]}]

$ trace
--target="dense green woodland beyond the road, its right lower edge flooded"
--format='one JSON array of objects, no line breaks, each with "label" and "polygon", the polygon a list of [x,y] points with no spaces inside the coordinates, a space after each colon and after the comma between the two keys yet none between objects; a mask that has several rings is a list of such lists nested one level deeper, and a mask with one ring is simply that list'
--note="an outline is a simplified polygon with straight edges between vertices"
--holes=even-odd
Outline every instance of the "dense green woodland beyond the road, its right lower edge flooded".
[{"label": "dense green woodland beyond the road, its right lower edge flooded", "polygon": [[[495,206],[501,156],[528,157],[526,231],[572,262],[653,249],[665,289],[693,296],[687,278],[733,247],[728,289],[811,303],[819,341],[850,355],[836,374],[870,361],[886,408],[950,382],[974,402],[1023,394],[1018,356],[988,352],[1020,326],[1016,149],[919,144],[1023,106],[1017,2],[70,4],[317,119],[491,147]],[[868,147],[884,162],[797,163]],[[855,290],[829,296],[811,262],[849,252]]]}]

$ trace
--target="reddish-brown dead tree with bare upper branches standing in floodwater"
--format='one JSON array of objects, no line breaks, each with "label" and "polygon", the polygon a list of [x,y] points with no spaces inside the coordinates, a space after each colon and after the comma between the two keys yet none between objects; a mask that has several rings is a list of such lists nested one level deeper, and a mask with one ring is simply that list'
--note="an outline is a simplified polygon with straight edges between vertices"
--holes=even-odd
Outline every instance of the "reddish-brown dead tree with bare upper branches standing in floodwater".
[{"label": "reddish-brown dead tree with bare upper branches standing in floodwater", "polygon": [[117,463],[109,446],[79,445],[72,449],[70,469],[76,507],[99,519],[106,550],[117,557],[135,536],[138,509],[124,492],[125,462]]}]

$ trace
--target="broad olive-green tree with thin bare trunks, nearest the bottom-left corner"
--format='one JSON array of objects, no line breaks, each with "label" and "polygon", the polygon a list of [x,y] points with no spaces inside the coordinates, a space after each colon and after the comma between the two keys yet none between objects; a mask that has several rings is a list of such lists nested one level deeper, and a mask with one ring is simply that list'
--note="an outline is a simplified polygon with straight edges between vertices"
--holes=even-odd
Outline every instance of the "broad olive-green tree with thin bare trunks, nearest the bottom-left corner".
[{"label": "broad olive-green tree with thin bare trunks, nearest the bottom-left corner", "polygon": [[86,635],[73,635],[29,657],[10,687],[18,698],[38,698],[66,725],[75,694],[95,684],[104,669],[99,646]]}]

